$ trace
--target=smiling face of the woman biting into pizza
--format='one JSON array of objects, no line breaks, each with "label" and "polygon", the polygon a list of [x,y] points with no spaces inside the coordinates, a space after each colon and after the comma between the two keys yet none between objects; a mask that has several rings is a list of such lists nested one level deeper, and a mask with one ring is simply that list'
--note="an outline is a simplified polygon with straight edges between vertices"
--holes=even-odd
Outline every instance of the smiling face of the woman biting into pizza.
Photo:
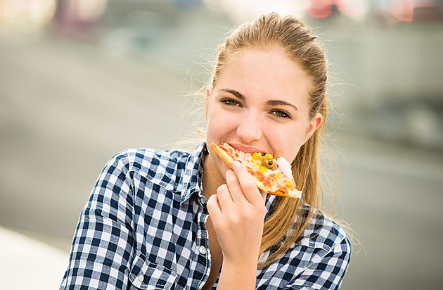
[{"label": "smiling face of the woman biting into pizza", "polygon": [[[322,120],[321,114],[309,119],[309,86],[309,77],[283,51],[234,54],[207,92],[207,143],[292,162]],[[224,176],[227,165],[212,149],[210,156]]]}]

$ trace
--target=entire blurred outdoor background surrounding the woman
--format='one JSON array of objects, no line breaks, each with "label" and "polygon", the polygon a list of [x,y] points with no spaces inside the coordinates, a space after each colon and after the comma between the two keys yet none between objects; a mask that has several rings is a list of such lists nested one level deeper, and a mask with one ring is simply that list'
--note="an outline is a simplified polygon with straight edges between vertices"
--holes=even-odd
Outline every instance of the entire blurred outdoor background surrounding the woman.
[{"label": "entire blurred outdoor background surrounding the woman", "polygon": [[0,0],[2,289],[57,289],[103,165],[186,136],[217,45],[269,11],[303,18],[330,60],[342,289],[441,289],[443,1]]}]

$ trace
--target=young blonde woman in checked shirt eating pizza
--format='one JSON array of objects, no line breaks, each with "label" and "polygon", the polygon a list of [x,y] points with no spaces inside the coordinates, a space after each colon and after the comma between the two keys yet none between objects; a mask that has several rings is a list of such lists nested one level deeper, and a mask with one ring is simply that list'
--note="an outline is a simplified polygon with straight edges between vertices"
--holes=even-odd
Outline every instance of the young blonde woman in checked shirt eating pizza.
[{"label": "young blonde woman in checked shirt eating pizza", "polygon": [[[134,149],[103,169],[60,289],[338,289],[351,253],[319,210],[326,57],[296,18],[264,15],[219,47],[193,153]],[[302,199],[267,195],[209,149],[292,160]]]}]

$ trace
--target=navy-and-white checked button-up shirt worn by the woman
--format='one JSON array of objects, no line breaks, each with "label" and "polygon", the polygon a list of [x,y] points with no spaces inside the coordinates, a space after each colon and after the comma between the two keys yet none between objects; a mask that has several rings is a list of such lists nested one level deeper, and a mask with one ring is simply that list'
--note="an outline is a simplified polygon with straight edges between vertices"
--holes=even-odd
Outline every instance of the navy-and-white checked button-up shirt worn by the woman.
[{"label": "navy-and-white checked button-up shirt worn by the woman", "polygon": [[[203,143],[192,154],[113,156],[80,215],[60,289],[201,289],[212,270],[201,189],[206,153]],[[267,208],[275,201],[269,195]],[[349,241],[318,211],[312,223],[290,251],[257,270],[257,289],[338,289]]]}]

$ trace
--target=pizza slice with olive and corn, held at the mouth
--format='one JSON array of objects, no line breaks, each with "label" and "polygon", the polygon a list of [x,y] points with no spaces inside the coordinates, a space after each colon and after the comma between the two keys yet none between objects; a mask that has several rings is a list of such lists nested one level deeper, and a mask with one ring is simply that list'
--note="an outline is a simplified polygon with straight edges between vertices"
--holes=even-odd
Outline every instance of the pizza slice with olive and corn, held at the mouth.
[{"label": "pizza slice with olive and corn, held at the mouth", "polygon": [[245,153],[227,143],[219,145],[211,142],[210,146],[230,168],[235,160],[240,161],[255,179],[257,187],[268,194],[302,197],[302,191],[295,188],[290,163],[282,156],[274,158],[267,153]]}]

